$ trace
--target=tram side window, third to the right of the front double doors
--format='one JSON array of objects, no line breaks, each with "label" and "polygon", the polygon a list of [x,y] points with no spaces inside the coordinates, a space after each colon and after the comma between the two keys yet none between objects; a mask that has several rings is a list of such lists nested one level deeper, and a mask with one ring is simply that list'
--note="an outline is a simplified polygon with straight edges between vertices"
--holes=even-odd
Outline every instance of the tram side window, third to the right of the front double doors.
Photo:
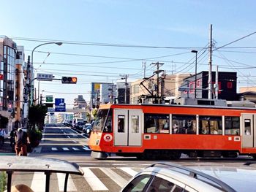
[{"label": "tram side window, third to the right of the front double doors", "polygon": [[199,134],[222,134],[222,117],[200,116]]}]

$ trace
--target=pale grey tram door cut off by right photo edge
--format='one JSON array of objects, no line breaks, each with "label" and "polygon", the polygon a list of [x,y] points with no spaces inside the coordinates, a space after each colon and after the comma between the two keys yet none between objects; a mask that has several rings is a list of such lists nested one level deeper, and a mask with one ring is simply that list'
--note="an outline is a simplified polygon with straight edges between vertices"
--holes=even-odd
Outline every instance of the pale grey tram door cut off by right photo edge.
[{"label": "pale grey tram door cut off by right photo edge", "polygon": [[242,147],[256,147],[256,114],[242,114]]}]

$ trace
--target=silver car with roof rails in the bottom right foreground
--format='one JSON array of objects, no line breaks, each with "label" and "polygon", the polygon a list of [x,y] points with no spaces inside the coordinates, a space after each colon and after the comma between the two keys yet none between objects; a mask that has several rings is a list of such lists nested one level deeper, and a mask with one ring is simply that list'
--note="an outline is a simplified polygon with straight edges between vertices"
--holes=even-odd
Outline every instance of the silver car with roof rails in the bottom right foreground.
[{"label": "silver car with roof rails in the bottom right foreground", "polygon": [[121,191],[240,192],[253,191],[255,185],[255,167],[195,166],[191,169],[177,164],[158,163],[136,174]]}]

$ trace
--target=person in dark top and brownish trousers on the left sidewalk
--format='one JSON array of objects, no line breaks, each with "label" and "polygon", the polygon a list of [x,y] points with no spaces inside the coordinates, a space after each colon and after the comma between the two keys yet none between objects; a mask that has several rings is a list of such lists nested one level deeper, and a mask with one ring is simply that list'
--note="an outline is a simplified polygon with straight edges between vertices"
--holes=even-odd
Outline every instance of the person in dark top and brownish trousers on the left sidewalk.
[{"label": "person in dark top and brownish trousers on the left sidewalk", "polygon": [[18,156],[26,156],[27,152],[27,145],[29,142],[28,134],[22,130],[22,128],[18,128],[18,131],[15,136],[15,152]]}]

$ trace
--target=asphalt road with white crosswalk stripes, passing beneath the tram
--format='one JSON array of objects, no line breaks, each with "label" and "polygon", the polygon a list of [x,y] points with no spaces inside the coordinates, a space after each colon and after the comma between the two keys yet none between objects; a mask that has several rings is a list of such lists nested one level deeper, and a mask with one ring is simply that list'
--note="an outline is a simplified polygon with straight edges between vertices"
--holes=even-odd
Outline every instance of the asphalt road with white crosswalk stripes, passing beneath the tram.
[{"label": "asphalt road with white crosswalk stripes, passing beneath the tram", "polygon": [[[91,158],[89,139],[72,128],[59,125],[45,127],[39,147],[30,156],[58,158],[78,164],[84,176],[69,176],[67,191],[120,191],[136,173],[159,161],[112,156],[105,160]],[[161,161],[183,166],[241,166],[252,161],[248,156],[239,158],[187,158],[182,155],[176,161]],[[34,191],[44,191],[45,175],[39,173],[15,173],[12,184],[25,183]],[[64,178],[61,174],[51,175],[50,191],[63,191]]]}]

